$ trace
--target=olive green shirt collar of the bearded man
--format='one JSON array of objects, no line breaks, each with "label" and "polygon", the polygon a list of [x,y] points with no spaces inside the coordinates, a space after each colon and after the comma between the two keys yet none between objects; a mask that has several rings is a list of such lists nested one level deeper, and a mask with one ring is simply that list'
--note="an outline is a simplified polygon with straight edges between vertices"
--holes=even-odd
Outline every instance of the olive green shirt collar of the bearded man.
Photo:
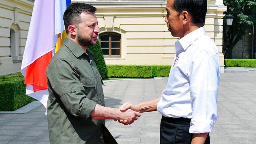
[{"label": "olive green shirt collar of the bearded man", "polygon": [[68,38],[64,39],[63,45],[67,46],[76,57],[80,57],[85,53],[89,56],[90,60],[93,60],[94,54],[89,50],[89,48],[87,48],[84,52],[84,50],[77,43]]}]

